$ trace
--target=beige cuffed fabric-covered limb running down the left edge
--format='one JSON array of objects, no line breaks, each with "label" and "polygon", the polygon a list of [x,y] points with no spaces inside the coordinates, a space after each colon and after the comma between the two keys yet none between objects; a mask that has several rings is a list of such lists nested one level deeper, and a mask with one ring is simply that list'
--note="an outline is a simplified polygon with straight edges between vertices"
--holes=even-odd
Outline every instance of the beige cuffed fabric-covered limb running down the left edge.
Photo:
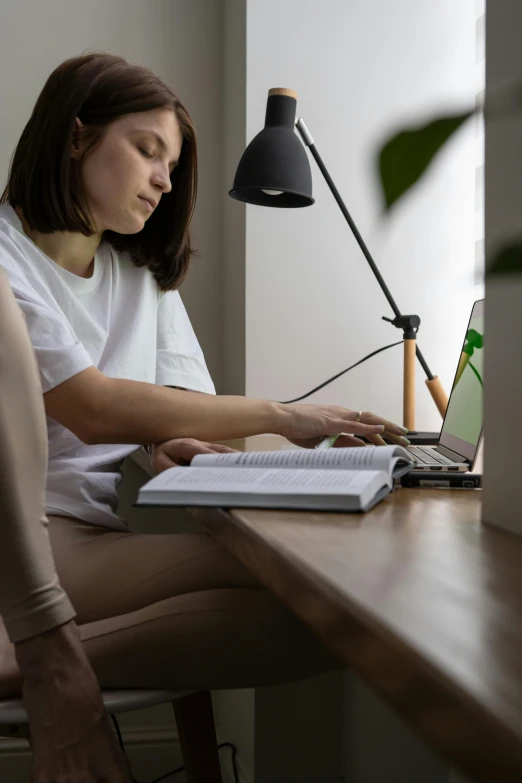
[{"label": "beige cuffed fabric-covered limb running down the left edge", "polygon": [[12,642],[75,616],[45,515],[47,427],[22,311],[0,269],[0,615]]}]

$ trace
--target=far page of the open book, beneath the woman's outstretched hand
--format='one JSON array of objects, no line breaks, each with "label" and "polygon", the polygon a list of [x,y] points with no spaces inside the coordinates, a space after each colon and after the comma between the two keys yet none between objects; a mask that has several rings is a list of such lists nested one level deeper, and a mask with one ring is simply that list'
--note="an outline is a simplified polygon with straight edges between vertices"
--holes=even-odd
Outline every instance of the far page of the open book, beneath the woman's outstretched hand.
[{"label": "far page of the open book, beneath the woman's outstretched hand", "polygon": [[391,474],[398,457],[412,461],[402,446],[360,446],[292,451],[250,451],[237,454],[198,454],[193,467],[322,468],[338,470],[384,470]]}]

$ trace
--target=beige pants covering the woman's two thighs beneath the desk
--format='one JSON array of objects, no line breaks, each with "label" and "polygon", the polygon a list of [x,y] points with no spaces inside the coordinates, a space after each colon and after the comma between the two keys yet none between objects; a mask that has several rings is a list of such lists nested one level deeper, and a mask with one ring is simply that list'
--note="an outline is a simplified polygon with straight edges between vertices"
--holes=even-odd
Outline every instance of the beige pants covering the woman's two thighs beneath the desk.
[{"label": "beige pants covering the woman's two thighs beneath the desk", "polygon": [[341,665],[207,534],[49,523],[58,576],[102,687],[243,688]]}]

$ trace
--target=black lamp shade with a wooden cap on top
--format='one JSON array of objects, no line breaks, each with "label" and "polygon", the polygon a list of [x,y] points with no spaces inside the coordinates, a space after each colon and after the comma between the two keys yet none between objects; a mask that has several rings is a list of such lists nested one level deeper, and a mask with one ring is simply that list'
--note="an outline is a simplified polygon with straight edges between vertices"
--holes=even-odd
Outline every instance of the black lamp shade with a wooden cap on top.
[{"label": "black lamp shade with a wooden cap on top", "polygon": [[294,131],[296,105],[289,95],[269,94],[265,127],[239,161],[229,191],[232,198],[264,207],[308,207],[314,203],[310,163]]}]

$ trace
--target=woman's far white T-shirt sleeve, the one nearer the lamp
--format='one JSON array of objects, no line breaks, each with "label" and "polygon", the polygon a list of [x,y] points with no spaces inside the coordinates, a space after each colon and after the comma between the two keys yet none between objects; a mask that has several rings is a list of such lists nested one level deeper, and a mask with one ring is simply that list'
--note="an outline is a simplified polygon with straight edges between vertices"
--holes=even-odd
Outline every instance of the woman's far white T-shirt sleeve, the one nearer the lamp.
[{"label": "woman's far white T-shirt sleeve, the one nearer the lamp", "polygon": [[178,291],[160,294],[156,383],[215,394],[203,351]]}]

